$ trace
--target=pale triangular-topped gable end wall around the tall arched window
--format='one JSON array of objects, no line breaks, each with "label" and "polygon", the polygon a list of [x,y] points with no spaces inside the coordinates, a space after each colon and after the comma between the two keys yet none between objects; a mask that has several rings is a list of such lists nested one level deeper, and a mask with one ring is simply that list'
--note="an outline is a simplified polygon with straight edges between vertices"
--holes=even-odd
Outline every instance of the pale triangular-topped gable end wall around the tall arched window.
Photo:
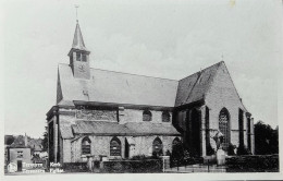
[{"label": "pale triangular-topped gable end wall around the tall arched window", "polygon": [[[234,84],[224,65],[221,65],[213,80],[213,83],[206,95],[206,105],[209,108],[210,129],[212,131],[219,129],[219,113],[222,108],[226,108],[230,113],[231,143],[238,146],[238,109],[244,111],[244,143],[247,144],[246,136],[246,111],[234,87]],[[210,133],[213,135],[213,133]],[[212,142],[213,143],[213,142]],[[213,145],[213,144],[212,144]]]}]

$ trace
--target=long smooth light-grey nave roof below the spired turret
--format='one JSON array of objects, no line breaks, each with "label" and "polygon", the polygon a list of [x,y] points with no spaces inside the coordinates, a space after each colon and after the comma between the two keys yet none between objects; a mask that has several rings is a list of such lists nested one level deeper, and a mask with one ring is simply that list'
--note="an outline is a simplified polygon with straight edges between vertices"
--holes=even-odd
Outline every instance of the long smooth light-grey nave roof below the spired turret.
[{"label": "long smooth light-grey nave roof below the spired turret", "polygon": [[[74,79],[67,64],[59,64],[63,99],[174,107],[177,81],[90,68],[90,80]],[[87,93],[87,95],[86,95]],[[71,101],[70,101],[71,100]],[[62,105],[62,102],[58,105]]]}]

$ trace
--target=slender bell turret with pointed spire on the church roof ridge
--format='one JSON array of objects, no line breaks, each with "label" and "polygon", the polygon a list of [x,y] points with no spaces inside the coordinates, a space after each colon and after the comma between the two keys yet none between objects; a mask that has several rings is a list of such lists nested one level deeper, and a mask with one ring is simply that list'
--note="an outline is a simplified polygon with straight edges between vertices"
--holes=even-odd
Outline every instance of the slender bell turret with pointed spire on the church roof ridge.
[{"label": "slender bell turret with pointed spire on the church roof ridge", "polygon": [[78,21],[76,21],[73,45],[67,53],[70,57],[70,65],[75,79],[90,79],[89,53],[90,51],[86,49]]}]

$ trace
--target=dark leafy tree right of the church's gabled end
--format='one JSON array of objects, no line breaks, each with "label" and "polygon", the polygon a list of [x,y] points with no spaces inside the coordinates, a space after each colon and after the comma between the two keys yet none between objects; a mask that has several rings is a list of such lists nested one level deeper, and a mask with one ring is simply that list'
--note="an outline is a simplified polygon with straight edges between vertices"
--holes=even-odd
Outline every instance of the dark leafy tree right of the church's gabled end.
[{"label": "dark leafy tree right of the church's gabled end", "polygon": [[259,121],[255,124],[256,155],[279,154],[278,128],[273,130],[269,124]]}]

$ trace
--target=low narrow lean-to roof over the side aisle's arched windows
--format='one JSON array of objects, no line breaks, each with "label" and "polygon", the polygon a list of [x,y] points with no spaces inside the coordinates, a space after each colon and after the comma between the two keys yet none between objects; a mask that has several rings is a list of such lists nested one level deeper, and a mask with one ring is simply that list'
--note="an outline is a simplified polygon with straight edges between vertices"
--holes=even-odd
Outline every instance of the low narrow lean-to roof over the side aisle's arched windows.
[{"label": "low narrow lean-to roof over the side aisle's arched windows", "polygon": [[[107,121],[77,121],[72,125],[74,134],[95,135],[180,135],[172,124],[128,122],[119,124]],[[63,135],[62,135],[63,136]],[[66,137],[63,137],[66,138]]]}]

